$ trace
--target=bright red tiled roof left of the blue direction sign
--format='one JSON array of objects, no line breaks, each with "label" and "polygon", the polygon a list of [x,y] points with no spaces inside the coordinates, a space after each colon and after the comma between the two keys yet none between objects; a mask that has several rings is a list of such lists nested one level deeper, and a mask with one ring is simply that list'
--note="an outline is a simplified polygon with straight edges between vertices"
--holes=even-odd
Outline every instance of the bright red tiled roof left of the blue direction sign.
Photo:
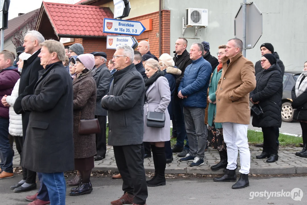
[{"label": "bright red tiled roof left of the blue direction sign", "polygon": [[113,18],[106,7],[50,2],[43,2],[43,7],[58,37],[107,36],[103,33],[103,19]]}]

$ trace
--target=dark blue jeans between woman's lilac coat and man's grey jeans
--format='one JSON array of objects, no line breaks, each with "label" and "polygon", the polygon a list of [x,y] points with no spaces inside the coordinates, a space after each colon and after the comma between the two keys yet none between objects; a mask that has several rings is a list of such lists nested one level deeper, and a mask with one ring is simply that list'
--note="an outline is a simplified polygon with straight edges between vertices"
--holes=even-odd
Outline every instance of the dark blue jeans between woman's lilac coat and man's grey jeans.
[{"label": "dark blue jeans between woman's lilac coat and man's grey jeans", "polygon": [[177,147],[183,147],[186,141],[186,144],[184,146],[185,149],[189,150],[189,142],[188,142],[188,136],[187,132],[185,132],[185,121],[183,116],[183,102],[182,99],[175,96],[174,99],[174,116],[175,121],[177,124]]}]

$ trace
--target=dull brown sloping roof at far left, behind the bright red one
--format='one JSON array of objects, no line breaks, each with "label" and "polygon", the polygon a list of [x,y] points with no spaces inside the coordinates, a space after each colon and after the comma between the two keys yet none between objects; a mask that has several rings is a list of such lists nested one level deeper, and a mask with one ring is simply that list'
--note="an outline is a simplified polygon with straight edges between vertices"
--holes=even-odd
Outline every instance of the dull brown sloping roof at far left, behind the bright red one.
[{"label": "dull brown sloping roof at far left, behind the bright red one", "polygon": [[38,12],[39,9],[36,9],[9,20],[7,29],[4,30],[4,41],[14,35],[17,30],[24,27],[31,18],[37,18]]}]

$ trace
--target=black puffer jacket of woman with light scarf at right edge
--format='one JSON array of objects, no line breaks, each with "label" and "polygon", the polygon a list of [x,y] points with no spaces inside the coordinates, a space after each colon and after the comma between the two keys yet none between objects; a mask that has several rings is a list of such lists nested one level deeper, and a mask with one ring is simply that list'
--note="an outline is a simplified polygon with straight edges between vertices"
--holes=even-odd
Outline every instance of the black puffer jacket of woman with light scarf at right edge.
[{"label": "black puffer jacket of woman with light scarf at right edge", "polygon": [[296,97],[295,85],[291,91],[292,96],[292,108],[295,108],[293,119],[307,122],[307,89],[304,93]]}]

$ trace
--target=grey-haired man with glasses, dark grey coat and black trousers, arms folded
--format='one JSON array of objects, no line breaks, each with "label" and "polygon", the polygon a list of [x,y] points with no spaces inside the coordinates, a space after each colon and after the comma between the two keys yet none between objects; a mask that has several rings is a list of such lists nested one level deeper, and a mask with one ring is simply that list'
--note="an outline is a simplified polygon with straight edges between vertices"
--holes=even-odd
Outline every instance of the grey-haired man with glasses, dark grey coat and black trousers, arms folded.
[{"label": "grey-haired man with glasses, dark grey coat and black trousers, arms folded", "polygon": [[114,79],[108,95],[101,105],[108,109],[109,138],[119,173],[122,175],[124,194],[111,205],[146,204],[148,196],[144,148],[144,97],[145,83],[132,63],[134,50],[128,45],[119,45],[114,53]]}]

